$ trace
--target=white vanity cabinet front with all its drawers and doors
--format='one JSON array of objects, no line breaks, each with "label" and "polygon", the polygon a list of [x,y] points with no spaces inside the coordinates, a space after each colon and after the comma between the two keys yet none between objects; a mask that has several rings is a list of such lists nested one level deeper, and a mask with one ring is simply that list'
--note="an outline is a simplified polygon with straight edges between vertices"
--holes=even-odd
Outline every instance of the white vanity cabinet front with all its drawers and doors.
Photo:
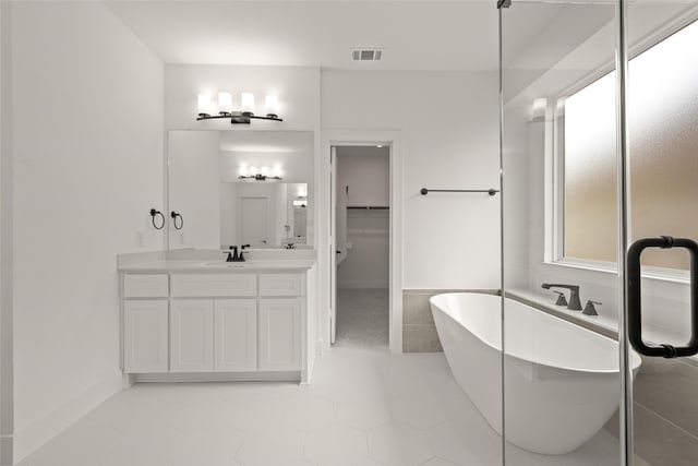
[{"label": "white vanity cabinet front with all its drawers and doors", "polygon": [[127,373],[304,369],[303,272],[124,274],[123,290]]}]

